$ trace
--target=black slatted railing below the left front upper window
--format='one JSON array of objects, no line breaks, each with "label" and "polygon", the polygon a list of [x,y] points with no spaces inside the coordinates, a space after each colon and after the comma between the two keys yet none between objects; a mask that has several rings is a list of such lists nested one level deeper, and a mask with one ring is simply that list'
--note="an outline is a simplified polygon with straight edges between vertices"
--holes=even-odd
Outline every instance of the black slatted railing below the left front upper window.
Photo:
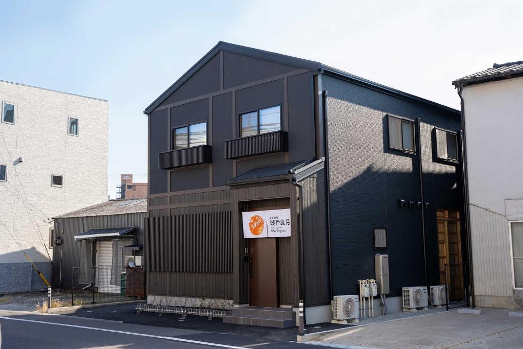
[{"label": "black slatted railing below the left front upper window", "polygon": [[158,166],[164,170],[169,168],[210,164],[212,162],[212,147],[198,145],[179,150],[171,150],[158,154]]}]

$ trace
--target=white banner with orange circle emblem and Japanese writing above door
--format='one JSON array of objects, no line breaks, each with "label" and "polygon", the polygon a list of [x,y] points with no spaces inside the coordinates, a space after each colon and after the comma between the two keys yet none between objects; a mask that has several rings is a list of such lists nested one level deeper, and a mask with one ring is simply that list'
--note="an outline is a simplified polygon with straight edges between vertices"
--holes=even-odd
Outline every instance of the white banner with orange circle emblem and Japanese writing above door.
[{"label": "white banner with orange circle emblem and Japanese writing above door", "polygon": [[282,238],[291,236],[291,210],[242,212],[243,237]]}]

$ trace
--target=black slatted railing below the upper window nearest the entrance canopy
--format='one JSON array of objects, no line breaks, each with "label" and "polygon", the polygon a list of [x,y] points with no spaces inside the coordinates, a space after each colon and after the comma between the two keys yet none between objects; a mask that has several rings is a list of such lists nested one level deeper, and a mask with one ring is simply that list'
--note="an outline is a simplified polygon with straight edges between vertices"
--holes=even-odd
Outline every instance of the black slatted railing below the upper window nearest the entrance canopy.
[{"label": "black slatted railing below the upper window nearest the entrance canopy", "polygon": [[263,155],[288,151],[289,134],[285,131],[255,134],[254,136],[235,138],[225,141],[225,159]]}]

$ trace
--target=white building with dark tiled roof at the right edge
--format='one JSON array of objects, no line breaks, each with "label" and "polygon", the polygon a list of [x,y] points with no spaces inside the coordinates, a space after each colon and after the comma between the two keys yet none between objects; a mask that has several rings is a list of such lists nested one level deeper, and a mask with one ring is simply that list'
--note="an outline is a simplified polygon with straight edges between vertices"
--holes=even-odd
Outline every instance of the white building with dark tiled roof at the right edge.
[{"label": "white building with dark tiled roof at the right edge", "polygon": [[462,96],[475,305],[523,308],[523,61],[453,82]]}]

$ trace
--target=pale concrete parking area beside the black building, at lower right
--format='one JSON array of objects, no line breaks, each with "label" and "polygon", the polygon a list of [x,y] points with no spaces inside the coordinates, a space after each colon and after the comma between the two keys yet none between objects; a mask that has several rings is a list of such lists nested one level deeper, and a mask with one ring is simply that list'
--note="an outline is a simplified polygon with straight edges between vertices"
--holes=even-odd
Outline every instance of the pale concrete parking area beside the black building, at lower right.
[{"label": "pale concrete parking area beside the black building, at lower right", "polygon": [[508,310],[456,310],[357,326],[321,336],[311,344],[339,348],[518,348],[523,347],[523,318]]}]

